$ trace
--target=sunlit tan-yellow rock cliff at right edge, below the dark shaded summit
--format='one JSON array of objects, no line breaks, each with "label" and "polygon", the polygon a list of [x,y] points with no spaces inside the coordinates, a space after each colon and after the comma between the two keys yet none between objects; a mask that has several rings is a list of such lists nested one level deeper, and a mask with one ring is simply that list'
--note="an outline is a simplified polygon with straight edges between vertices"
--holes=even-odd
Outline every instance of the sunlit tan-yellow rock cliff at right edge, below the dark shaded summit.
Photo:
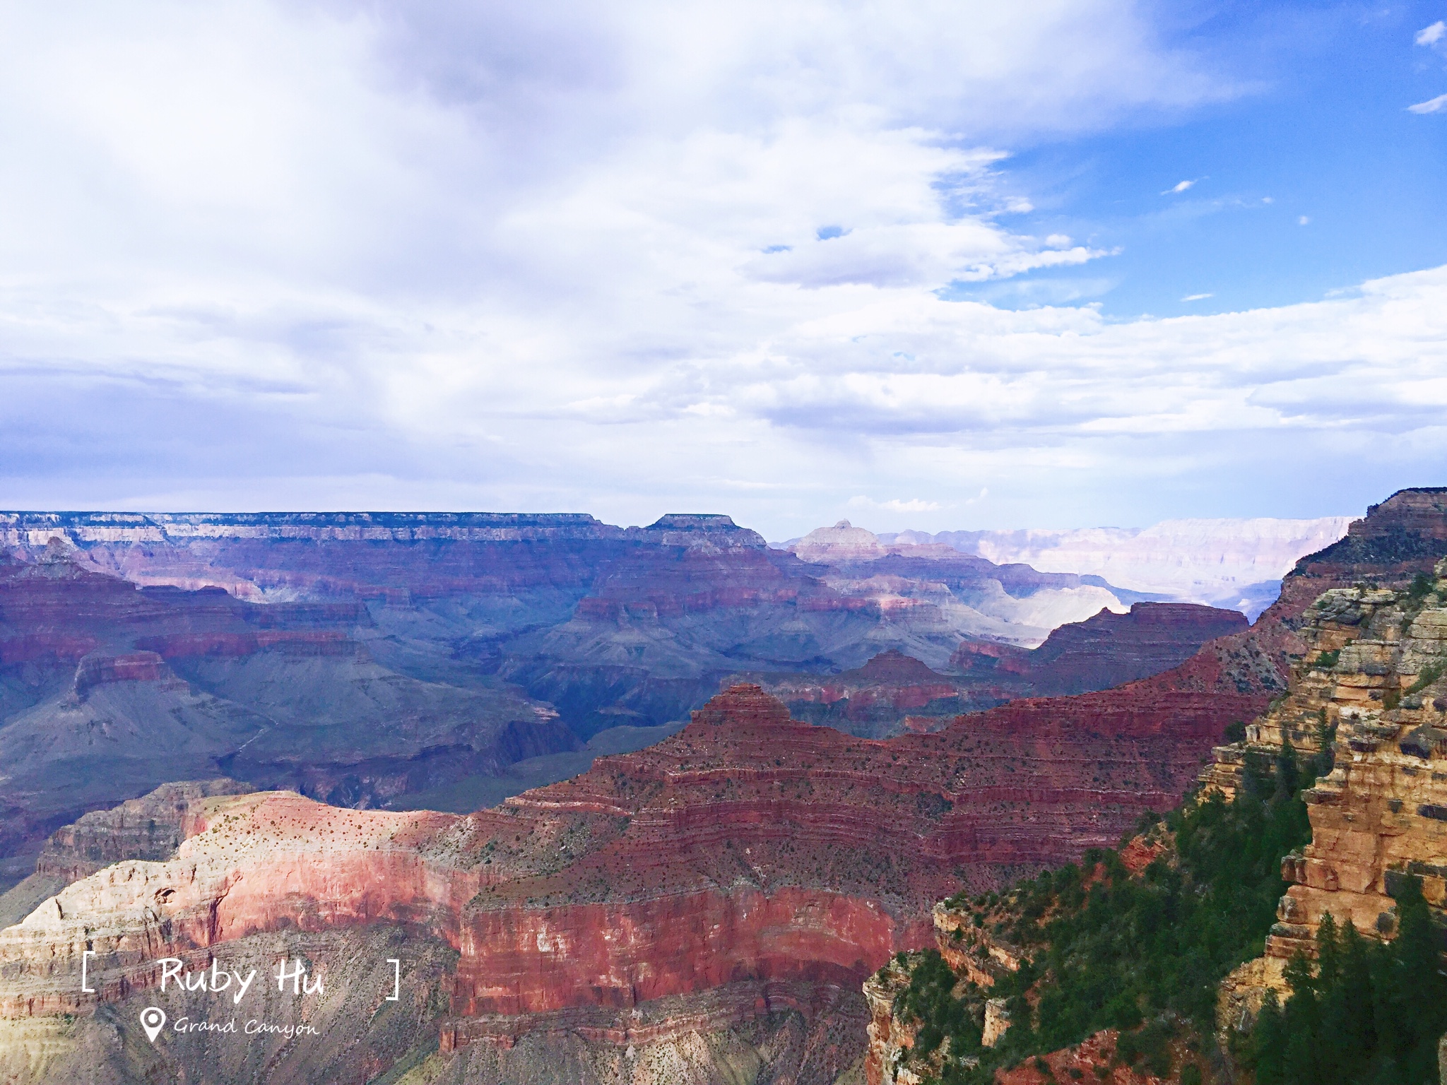
[{"label": "sunlit tan-yellow rock cliff at right edge, below the dark shaded summit", "polygon": [[[1291,696],[1217,751],[1205,781],[1226,793],[1269,781],[1289,744],[1334,768],[1305,793],[1311,843],[1285,859],[1292,882],[1266,942],[1223,991],[1223,1024],[1240,1024],[1285,962],[1314,953],[1323,917],[1373,937],[1395,930],[1395,880],[1421,878],[1447,909],[1447,563],[1405,589],[1327,590],[1307,612],[1308,651]],[[1276,770],[1279,771],[1279,770]],[[1266,784],[1269,786],[1269,783]],[[1244,1017],[1243,1017],[1244,1014]]]}]

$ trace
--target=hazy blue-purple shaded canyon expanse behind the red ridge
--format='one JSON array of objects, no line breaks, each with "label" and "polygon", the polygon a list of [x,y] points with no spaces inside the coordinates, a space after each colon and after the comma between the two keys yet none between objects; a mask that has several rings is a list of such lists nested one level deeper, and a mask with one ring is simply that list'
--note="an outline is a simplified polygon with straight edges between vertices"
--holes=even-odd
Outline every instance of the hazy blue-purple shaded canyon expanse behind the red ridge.
[{"label": "hazy blue-purple shaded canyon expanse behind the red ridge", "polygon": [[[708,515],[0,514],[0,885],[58,826],[171,780],[466,812],[654,742],[734,680],[888,651],[949,668],[978,637],[1007,650],[1046,637],[1042,613],[1120,606],[948,548],[809,563]],[[1053,673],[1016,670],[930,712]],[[874,732],[912,696],[877,699]]]}]

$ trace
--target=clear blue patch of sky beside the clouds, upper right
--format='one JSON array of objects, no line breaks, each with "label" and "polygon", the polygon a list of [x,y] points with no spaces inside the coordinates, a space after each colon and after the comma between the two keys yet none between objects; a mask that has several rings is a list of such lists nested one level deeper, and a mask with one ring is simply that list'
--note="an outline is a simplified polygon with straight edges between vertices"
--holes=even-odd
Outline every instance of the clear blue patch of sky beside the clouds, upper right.
[{"label": "clear blue patch of sky beside the clouds, upper right", "polygon": [[1036,207],[1023,229],[1120,253],[954,297],[1226,312],[1447,262],[1447,117],[1405,109],[1444,93],[1443,51],[1414,39],[1447,4],[1184,7],[1171,38],[1239,97],[1032,142],[1001,166]]}]

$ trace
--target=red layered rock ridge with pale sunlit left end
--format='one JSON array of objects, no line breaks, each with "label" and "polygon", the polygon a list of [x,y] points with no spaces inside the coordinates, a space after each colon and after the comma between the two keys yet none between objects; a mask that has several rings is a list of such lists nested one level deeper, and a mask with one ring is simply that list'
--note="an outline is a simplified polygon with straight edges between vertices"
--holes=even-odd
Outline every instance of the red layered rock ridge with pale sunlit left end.
[{"label": "red layered rock ridge with pale sunlit left end", "polygon": [[[161,956],[204,965],[268,933],[382,924],[457,952],[440,1075],[515,1066],[567,1036],[741,1059],[751,1036],[754,1058],[803,1044],[809,1073],[820,1052],[846,1066],[864,1042],[852,992],[933,937],[935,900],[1074,858],[1178,801],[1227,722],[1198,693],[1163,689],[1104,723],[1100,705],[1040,700],[875,742],[744,686],[657,746],[469,816],[201,797],[172,858],[106,867],[0,935],[0,1011],[136,1005],[156,997]],[[94,995],[75,982],[87,948]]]}]

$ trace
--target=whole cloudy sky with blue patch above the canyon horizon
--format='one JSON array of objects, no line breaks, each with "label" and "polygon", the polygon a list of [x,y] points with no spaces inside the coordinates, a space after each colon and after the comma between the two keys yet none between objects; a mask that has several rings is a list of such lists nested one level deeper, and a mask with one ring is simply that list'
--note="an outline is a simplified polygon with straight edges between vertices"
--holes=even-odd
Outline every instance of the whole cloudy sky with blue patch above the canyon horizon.
[{"label": "whole cloudy sky with blue patch above the canyon horizon", "polygon": [[1447,0],[0,10],[0,508],[1447,485]]}]

